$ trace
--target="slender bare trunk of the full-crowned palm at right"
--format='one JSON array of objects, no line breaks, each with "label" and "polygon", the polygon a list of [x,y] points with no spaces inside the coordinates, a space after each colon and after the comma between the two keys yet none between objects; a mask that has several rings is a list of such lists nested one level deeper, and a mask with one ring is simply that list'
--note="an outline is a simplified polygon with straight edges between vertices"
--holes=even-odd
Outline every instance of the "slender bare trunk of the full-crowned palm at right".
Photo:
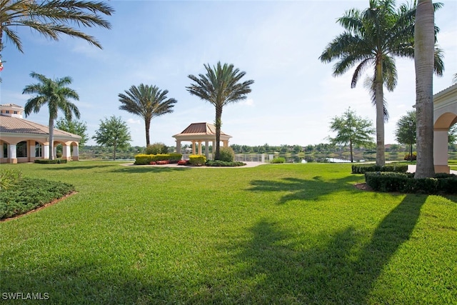
[{"label": "slender bare trunk of the full-crowned palm at right", "polygon": [[376,99],[376,165],[384,166],[384,94],[382,60],[376,59],[375,99]]}]

